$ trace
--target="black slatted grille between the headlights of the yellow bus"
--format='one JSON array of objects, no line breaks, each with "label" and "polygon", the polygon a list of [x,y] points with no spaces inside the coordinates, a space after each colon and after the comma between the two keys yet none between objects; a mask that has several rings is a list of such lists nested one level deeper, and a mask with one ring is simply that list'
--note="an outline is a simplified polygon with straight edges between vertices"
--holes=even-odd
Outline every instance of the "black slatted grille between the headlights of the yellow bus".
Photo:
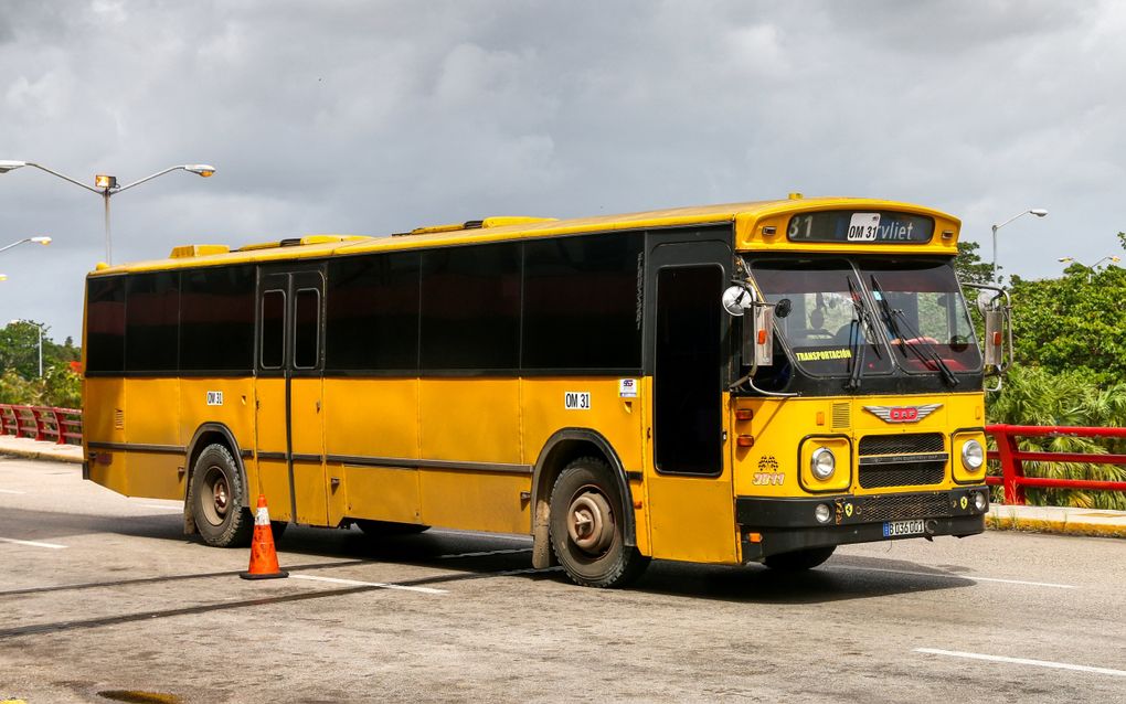
[{"label": "black slatted grille between the headlights of the yellow bus", "polygon": [[941,434],[869,435],[860,438],[859,481],[864,489],[940,484],[947,454]]}]

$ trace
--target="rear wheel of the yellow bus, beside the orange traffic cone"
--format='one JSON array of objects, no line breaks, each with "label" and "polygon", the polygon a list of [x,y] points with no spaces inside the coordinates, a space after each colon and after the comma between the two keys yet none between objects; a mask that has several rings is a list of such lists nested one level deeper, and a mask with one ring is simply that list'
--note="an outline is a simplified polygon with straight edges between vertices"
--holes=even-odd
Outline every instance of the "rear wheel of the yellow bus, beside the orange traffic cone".
[{"label": "rear wheel of the yellow bus, beside the orange traffic cone", "polygon": [[191,509],[199,536],[215,547],[245,547],[254,531],[247,488],[234,457],[222,445],[208,445],[191,471]]}]

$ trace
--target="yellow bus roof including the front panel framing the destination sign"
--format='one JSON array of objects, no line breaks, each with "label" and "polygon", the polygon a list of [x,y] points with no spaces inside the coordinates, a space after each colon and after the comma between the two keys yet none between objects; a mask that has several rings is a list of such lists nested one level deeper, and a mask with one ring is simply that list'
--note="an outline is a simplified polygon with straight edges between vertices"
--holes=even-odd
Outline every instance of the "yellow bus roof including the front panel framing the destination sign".
[{"label": "yellow bus roof including the front panel framing the destination sign", "polygon": [[[786,223],[796,213],[817,211],[893,211],[913,213],[935,220],[930,242],[902,243],[790,242]],[[311,234],[302,238],[247,244],[231,250],[224,244],[187,244],[177,247],[167,259],[108,266],[99,264],[91,275],[124,274],[159,269],[176,269],[223,264],[323,258],[340,255],[452,247],[490,241],[504,241],[563,234],[581,234],[625,230],[650,230],[691,225],[734,224],[735,249],[807,252],[856,252],[863,247],[873,253],[957,253],[962,222],[933,208],[874,198],[821,197],[804,198],[792,194],[779,200],[756,200],[645,211],[620,215],[599,215],[571,220],[549,217],[488,217],[452,225],[418,228],[409,233],[365,237],[354,234]]]}]

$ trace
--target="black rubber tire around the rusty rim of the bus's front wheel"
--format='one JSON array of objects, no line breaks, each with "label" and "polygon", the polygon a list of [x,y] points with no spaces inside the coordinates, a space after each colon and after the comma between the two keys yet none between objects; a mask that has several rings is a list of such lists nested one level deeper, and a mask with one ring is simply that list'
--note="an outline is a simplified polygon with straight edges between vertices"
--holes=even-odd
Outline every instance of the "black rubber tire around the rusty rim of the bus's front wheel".
[{"label": "black rubber tire around the rusty rim of the bus's front wheel", "polygon": [[[584,496],[593,497],[610,511],[602,518],[610,522],[613,535],[607,545],[592,551],[575,543],[568,531],[572,507]],[[571,581],[584,587],[624,587],[645,571],[649,558],[625,544],[625,510],[618,483],[606,462],[581,457],[563,469],[552,488],[548,526],[552,550]]]}]

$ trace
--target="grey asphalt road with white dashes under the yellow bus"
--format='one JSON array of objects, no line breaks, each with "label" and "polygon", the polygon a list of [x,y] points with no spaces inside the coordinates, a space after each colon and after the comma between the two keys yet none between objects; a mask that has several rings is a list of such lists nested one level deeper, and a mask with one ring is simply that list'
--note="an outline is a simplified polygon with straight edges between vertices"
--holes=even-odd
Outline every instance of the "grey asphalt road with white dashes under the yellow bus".
[{"label": "grey asphalt road with white dashes under the yellow bus", "polygon": [[900,541],[796,576],[655,562],[607,591],[533,571],[528,538],[438,529],[291,526],[292,576],[245,581],[249,551],[180,525],[0,460],[0,702],[1126,702],[1117,540]]}]

